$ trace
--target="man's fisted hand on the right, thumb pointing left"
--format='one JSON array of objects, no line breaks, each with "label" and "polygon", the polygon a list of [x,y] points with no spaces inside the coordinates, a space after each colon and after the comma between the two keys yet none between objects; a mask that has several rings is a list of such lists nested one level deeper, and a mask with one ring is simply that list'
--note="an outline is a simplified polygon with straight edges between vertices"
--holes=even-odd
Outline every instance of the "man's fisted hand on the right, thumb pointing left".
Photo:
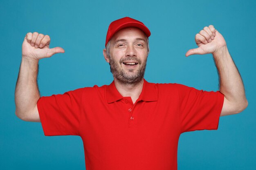
[{"label": "man's fisted hand on the right, thumb pointing left", "polygon": [[205,26],[204,29],[197,33],[195,35],[195,43],[198,48],[187,51],[186,57],[193,54],[214,54],[227,47],[225,39],[213,25]]}]

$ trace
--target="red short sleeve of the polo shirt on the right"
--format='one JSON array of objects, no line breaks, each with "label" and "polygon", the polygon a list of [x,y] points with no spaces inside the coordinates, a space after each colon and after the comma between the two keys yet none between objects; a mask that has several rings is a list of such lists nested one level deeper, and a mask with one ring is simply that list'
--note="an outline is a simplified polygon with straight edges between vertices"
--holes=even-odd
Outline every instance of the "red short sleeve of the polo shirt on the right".
[{"label": "red short sleeve of the polo shirt on the right", "polygon": [[194,130],[217,130],[224,95],[175,84],[179,94],[181,133]]}]

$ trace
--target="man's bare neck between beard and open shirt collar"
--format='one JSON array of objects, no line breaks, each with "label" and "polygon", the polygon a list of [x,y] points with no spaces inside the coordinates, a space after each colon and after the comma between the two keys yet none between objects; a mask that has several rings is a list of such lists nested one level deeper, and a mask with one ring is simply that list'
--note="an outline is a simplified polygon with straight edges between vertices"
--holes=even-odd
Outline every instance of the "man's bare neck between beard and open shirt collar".
[{"label": "man's bare neck between beard and open shirt collar", "polygon": [[133,104],[136,102],[136,100],[139,98],[139,95],[143,88],[144,79],[141,79],[140,82],[137,82],[136,84],[124,84],[119,82],[114,77],[115,86],[117,88],[117,91],[123,96],[123,97],[131,97]]}]

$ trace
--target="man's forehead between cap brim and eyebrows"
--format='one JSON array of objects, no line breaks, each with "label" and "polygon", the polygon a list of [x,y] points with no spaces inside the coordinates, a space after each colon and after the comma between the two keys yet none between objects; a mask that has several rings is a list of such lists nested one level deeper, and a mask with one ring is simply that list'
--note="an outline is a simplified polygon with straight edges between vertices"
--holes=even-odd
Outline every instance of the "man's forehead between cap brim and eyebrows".
[{"label": "man's forehead between cap brim and eyebrows", "polygon": [[136,39],[136,38],[144,38],[146,40],[146,34],[136,27],[128,27],[121,29],[113,35],[111,38],[112,42],[115,42],[117,39]]}]

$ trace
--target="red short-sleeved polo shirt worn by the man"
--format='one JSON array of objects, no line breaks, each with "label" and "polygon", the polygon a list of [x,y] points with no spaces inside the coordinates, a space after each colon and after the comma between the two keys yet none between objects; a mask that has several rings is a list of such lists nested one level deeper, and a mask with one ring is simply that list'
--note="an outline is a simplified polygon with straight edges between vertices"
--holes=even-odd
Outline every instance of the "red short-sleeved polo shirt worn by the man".
[{"label": "red short-sleeved polo shirt worn by the man", "polygon": [[180,134],[216,130],[224,95],[144,79],[132,103],[114,82],[40,97],[45,136],[79,135],[86,170],[177,170]]}]

